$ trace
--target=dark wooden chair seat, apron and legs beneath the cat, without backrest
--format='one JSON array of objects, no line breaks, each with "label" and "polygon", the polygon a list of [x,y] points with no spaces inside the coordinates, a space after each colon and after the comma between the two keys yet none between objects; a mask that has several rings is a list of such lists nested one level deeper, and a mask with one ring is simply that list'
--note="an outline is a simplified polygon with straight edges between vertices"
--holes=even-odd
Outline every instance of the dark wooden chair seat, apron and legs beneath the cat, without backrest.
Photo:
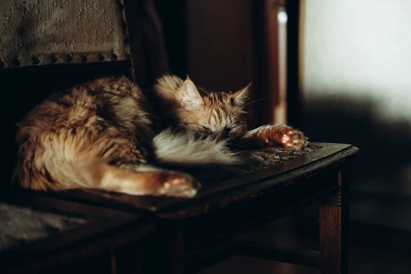
[{"label": "dark wooden chair seat, apron and legs beneath the cat, without backrest", "polygon": [[[253,159],[249,166],[190,171],[203,184],[194,199],[101,190],[70,190],[53,196],[155,216],[158,226],[149,238],[151,248],[145,249],[147,273],[196,273],[233,255],[319,267],[324,274],[347,273],[350,166],[358,148],[311,143],[298,152],[242,153]],[[233,238],[318,201],[319,251]]]}]

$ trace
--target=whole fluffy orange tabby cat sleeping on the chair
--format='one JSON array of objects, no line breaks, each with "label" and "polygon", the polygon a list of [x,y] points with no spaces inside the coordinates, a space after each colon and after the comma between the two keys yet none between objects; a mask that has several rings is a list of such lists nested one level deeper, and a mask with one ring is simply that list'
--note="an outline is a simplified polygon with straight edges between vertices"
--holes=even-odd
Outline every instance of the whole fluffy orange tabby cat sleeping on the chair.
[{"label": "whole fluffy orange tabby cat sleeping on the chair", "polygon": [[290,149],[306,145],[306,137],[286,125],[247,132],[247,88],[208,92],[189,78],[167,75],[158,79],[153,95],[149,102],[121,77],[51,96],[18,125],[16,182],[40,190],[193,197],[200,187],[194,178],[158,166],[236,164],[240,159],[227,147],[228,139]]}]

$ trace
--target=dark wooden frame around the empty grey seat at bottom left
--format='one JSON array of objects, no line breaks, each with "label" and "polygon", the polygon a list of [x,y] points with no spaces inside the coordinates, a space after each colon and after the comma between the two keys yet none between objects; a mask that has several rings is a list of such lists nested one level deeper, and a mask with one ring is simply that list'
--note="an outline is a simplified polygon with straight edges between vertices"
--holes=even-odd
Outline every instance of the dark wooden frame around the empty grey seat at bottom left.
[{"label": "dark wooden frame around the empty grey seat at bottom left", "polygon": [[[77,271],[84,265],[114,265],[115,269],[124,268],[125,248],[131,246],[133,252],[138,252],[140,240],[155,228],[153,221],[140,218],[136,214],[39,197],[33,192],[12,192],[7,195],[3,193],[0,199],[2,203],[16,207],[24,206],[32,210],[88,219],[87,223],[58,234],[1,250],[1,273],[53,273],[53,269],[55,273],[65,267],[76,269],[76,264]],[[111,252],[114,252],[114,262],[119,260],[117,264],[110,261]],[[133,258],[132,261],[137,263],[138,260],[140,259]],[[127,262],[127,265],[130,262]],[[135,267],[138,265],[134,264]]]}]

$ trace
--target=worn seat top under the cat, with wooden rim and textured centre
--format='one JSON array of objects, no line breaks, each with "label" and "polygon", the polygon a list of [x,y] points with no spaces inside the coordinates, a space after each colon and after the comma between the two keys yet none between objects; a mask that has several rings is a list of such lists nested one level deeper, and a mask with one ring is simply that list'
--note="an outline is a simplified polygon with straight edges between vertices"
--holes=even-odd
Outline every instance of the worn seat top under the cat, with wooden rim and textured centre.
[{"label": "worn seat top under the cat, with wooden rim and textured centre", "polygon": [[[139,197],[103,190],[68,190],[56,194],[58,197],[75,197],[84,201],[124,208],[132,206],[138,210],[162,213],[164,216],[197,216],[225,208],[231,203],[253,199],[264,192],[273,192],[284,197],[287,186],[297,181],[315,177],[329,170],[329,165],[337,166],[345,158],[356,154],[358,148],[345,144],[312,142],[306,149],[290,151],[281,148],[247,150],[242,153],[249,162],[242,166],[229,168],[197,169],[190,171],[203,184],[194,199],[169,197]],[[336,191],[336,182],[324,182],[293,186],[297,192],[306,191],[316,194],[324,190]],[[284,195],[283,195],[284,194]],[[286,198],[288,200],[288,197]],[[197,212],[198,211],[198,212]]]}]

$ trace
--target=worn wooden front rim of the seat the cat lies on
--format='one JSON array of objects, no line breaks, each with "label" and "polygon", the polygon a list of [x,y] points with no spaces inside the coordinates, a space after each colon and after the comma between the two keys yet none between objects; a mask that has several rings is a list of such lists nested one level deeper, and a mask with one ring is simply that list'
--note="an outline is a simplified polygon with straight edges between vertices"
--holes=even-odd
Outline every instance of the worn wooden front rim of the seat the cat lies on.
[{"label": "worn wooden front rim of the seat the cat lies on", "polygon": [[[346,158],[355,154],[358,149],[351,145],[312,143],[316,147],[310,153],[298,155],[291,160],[282,160],[277,163],[261,164],[258,169],[246,167],[243,172],[229,173],[231,179],[222,182],[218,179],[209,179],[203,182],[203,187],[194,199],[177,199],[170,197],[138,197],[102,190],[69,190],[45,195],[57,195],[64,199],[79,199],[87,203],[110,206],[122,210],[138,210],[140,212],[158,212],[164,217],[181,218],[196,216],[212,210],[220,210],[238,201],[253,199],[264,191],[281,191],[281,188],[292,186],[295,179],[312,177],[327,168],[329,165],[342,164]],[[295,152],[289,152],[295,153]],[[273,158],[278,155],[273,153]],[[271,161],[273,161],[273,158]],[[262,158],[262,163],[265,162]],[[209,170],[211,173],[212,171]],[[221,173],[214,171],[214,174]]]}]

